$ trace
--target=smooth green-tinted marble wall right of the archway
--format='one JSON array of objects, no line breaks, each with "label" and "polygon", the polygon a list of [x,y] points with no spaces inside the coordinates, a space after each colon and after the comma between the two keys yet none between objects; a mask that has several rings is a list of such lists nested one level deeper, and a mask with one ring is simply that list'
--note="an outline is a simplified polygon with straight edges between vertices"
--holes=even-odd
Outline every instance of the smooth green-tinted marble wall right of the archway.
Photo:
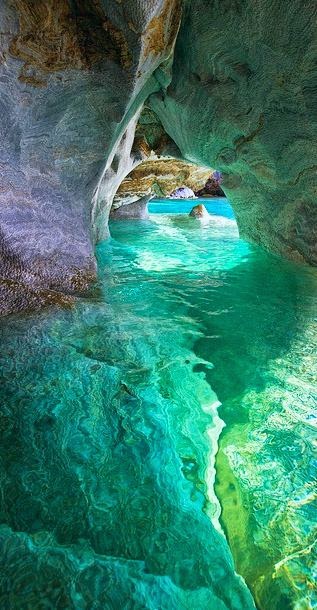
[{"label": "smooth green-tinted marble wall right of the archway", "polygon": [[184,158],[224,174],[240,234],[317,264],[317,4],[190,0],[151,97]]}]

